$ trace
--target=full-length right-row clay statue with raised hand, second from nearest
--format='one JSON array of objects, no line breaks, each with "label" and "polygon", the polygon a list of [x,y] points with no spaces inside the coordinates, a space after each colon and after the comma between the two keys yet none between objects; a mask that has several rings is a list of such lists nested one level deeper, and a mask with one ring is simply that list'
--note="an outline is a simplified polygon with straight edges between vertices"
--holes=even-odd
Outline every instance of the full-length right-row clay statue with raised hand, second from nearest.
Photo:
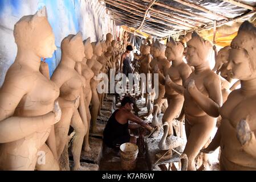
[{"label": "full-length right-row clay statue with raised hand, second from nearest", "polygon": [[[188,170],[195,170],[195,158],[205,146],[216,126],[218,108],[222,105],[221,81],[208,63],[212,45],[193,32],[189,40],[186,60],[194,72],[185,85],[172,84],[178,93],[184,93],[185,130],[187,143],[184,153],[188,156]],[[166,78],[167,84],[172,81]],[[182,160],[183,162],[183,160]]]}]

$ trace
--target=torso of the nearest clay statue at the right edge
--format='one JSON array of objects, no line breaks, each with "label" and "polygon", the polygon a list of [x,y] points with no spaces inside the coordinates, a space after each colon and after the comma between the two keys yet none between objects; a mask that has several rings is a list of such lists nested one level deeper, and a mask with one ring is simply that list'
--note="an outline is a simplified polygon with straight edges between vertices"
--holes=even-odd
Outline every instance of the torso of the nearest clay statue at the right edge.
[{"label": "torso of the nearest clay statue at the right edge", "polygon": [[[241,170],[241,167],[244,167],[245,170],[256,169],[256,159],[242,150],[235,131],[238,122],[245,119],[248,113],[251,114],[251,118],[256,117],[255,111],[251,107],[255,102],[255,95],[245,97],[241,94],[241,89],[238,89],[229,94],[228,100],[221,107],[221,155],[222,158],[225,158],[226,170]],[[254,119],[247,119],[250,129],[255,131],[256,123],[253,121]],[[235,166],[239,166],[239,168],[234,168]]]}]

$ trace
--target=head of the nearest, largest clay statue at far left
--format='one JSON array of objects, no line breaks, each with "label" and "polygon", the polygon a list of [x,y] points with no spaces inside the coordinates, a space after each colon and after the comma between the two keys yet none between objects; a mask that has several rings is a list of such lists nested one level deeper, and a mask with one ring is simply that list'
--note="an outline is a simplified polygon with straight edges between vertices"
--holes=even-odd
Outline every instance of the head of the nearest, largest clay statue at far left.
[{"label": "head of the nearest, largest clay statue at far left", "polygon": [[23,16],[14,26],[14,38],[18,50],[32,50],[39,57],[52,57],[57,48],[47,20],[46,7],[38,10],[35,15]]}]

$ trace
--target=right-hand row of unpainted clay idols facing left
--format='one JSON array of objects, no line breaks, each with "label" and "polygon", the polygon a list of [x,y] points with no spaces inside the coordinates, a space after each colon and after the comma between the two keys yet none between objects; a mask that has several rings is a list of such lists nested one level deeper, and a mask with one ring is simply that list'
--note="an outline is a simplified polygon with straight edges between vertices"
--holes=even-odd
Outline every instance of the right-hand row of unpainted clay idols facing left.
[{"label": "right-hand row of unpainted clay idols facing left", "polygon": [[[175,146],[175,142],[170,140],[173,135],[172,121],[181,112],[179,119],[185,115],[187,143],[184,154],[188,156],[186,165],[189,170],[196,169],[195,159],[208,142],[216,127],[215,118],[219,115],[221,123],[216,137],[202,151],[209,153],[220,146],[222,170],[256,169],[255,40],[256,28],[253,24],[244,22],[231,46],[221,49],[216,55],[216,67],[213,71],[208,63],[212,45],[195,32],[187,42],[185,51],[182,44],[174,40],[168,42],[166,48],[157,41],[151,46],[141,46],[141,72],[159,73],[159,96],[153,100],[151,93],[150,98],[154,101],[152,124],[155,126],[160,125],[156,116],[160,113],[164,100],[168,100],[168,108],[162,118],[165,134],[159,147],[167,150]],[[182,61],[184,52],[188,64]],[[221,72],[222,77],[214,71]],[[239,81],[230,88],[232,78]],[[234,90],[240,81],[241,89]],[[234,91],[230,93],[230,90]],[[182,137],[182,131],[179,136]],[[161,155],[157,154],[159,156]],[[172,152],[165,158],[170,156]],[[185,161],[182,160],[182,163],[184,165]]]}]

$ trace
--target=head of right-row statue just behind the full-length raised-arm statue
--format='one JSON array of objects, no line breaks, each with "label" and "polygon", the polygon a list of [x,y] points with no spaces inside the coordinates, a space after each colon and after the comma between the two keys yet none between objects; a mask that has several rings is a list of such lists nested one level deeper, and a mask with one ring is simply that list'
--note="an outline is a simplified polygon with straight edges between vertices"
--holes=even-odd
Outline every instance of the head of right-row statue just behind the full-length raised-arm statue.
[{"label": "head of right-row statue just behind the full-length raised-arm statue", "polygon": [[176,42],[173,38],[166,44],[165,56],[169,61],[182,58],[184,47],[180,42]]}]

